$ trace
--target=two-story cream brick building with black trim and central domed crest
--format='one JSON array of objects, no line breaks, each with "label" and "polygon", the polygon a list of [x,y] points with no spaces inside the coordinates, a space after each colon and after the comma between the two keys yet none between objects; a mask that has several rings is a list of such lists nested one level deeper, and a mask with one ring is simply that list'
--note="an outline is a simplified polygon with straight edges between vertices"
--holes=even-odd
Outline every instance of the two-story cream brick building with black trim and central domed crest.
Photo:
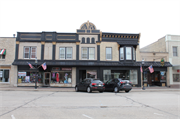
[{"label": "two-story cream brick building with black trim and central domed crest", "polygon": [[[107,33],[85,22],[76,33],[18,32],[13,65],[17,66],[17,85],[34,86],[37,66],[39,86],[74,87],[84,78],[127,78],[141,86],[140,34]],[[149,62],[152,64],[154,62]],[[147,63],[146,63],[147,64]],[[154,67],[159,67],[156,62]],[[170,66],[165,62],[165,67]]]}]

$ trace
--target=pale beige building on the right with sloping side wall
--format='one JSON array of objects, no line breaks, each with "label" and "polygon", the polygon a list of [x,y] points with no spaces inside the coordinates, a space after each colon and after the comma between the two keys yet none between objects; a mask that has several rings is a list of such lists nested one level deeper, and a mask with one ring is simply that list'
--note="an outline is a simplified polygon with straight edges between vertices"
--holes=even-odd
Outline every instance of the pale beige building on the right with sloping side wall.
[{"label": "pale beige building on the right with sloping side wall", "polygon": [[158,41],[140,49],[141,58],[145,61],[170,62],[173,67],[168,67],[166,72],[167,86],[180,85],[180,36],[166,35]]}]

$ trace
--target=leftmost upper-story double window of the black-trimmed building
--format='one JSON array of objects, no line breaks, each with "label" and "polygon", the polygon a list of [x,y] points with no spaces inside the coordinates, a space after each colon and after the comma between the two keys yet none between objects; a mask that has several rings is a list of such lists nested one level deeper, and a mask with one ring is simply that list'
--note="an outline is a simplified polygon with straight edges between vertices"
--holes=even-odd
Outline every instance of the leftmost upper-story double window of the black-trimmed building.
[{"label": "leftmost upper-story double window of the black-trimmed building", "polygon": [[24,58],[35,59],[36,58],[36,47],[24,47]]}]

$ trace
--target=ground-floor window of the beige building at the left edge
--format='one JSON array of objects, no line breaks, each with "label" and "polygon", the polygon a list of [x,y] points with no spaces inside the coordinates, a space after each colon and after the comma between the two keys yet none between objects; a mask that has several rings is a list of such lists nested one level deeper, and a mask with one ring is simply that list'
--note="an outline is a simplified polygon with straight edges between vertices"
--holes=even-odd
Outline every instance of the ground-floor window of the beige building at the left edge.
[{"label": "ground-floor window of the beige building at the left edge", "polygon": [[0,69],[0,82],[9,82],[9,70]]}]

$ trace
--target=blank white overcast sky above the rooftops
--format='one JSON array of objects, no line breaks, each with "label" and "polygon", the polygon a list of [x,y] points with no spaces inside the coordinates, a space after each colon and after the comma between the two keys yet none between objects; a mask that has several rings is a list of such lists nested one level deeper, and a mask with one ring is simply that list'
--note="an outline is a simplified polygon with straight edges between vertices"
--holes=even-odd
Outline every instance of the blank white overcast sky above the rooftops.
[{"label": "blank white overcast sky above the rooftops", "polygon": [[0,37],[75,33],[88,20],[102,32],[141,33],[142,48],[167,34],[180,35],[180,0],[0,0]]}]

